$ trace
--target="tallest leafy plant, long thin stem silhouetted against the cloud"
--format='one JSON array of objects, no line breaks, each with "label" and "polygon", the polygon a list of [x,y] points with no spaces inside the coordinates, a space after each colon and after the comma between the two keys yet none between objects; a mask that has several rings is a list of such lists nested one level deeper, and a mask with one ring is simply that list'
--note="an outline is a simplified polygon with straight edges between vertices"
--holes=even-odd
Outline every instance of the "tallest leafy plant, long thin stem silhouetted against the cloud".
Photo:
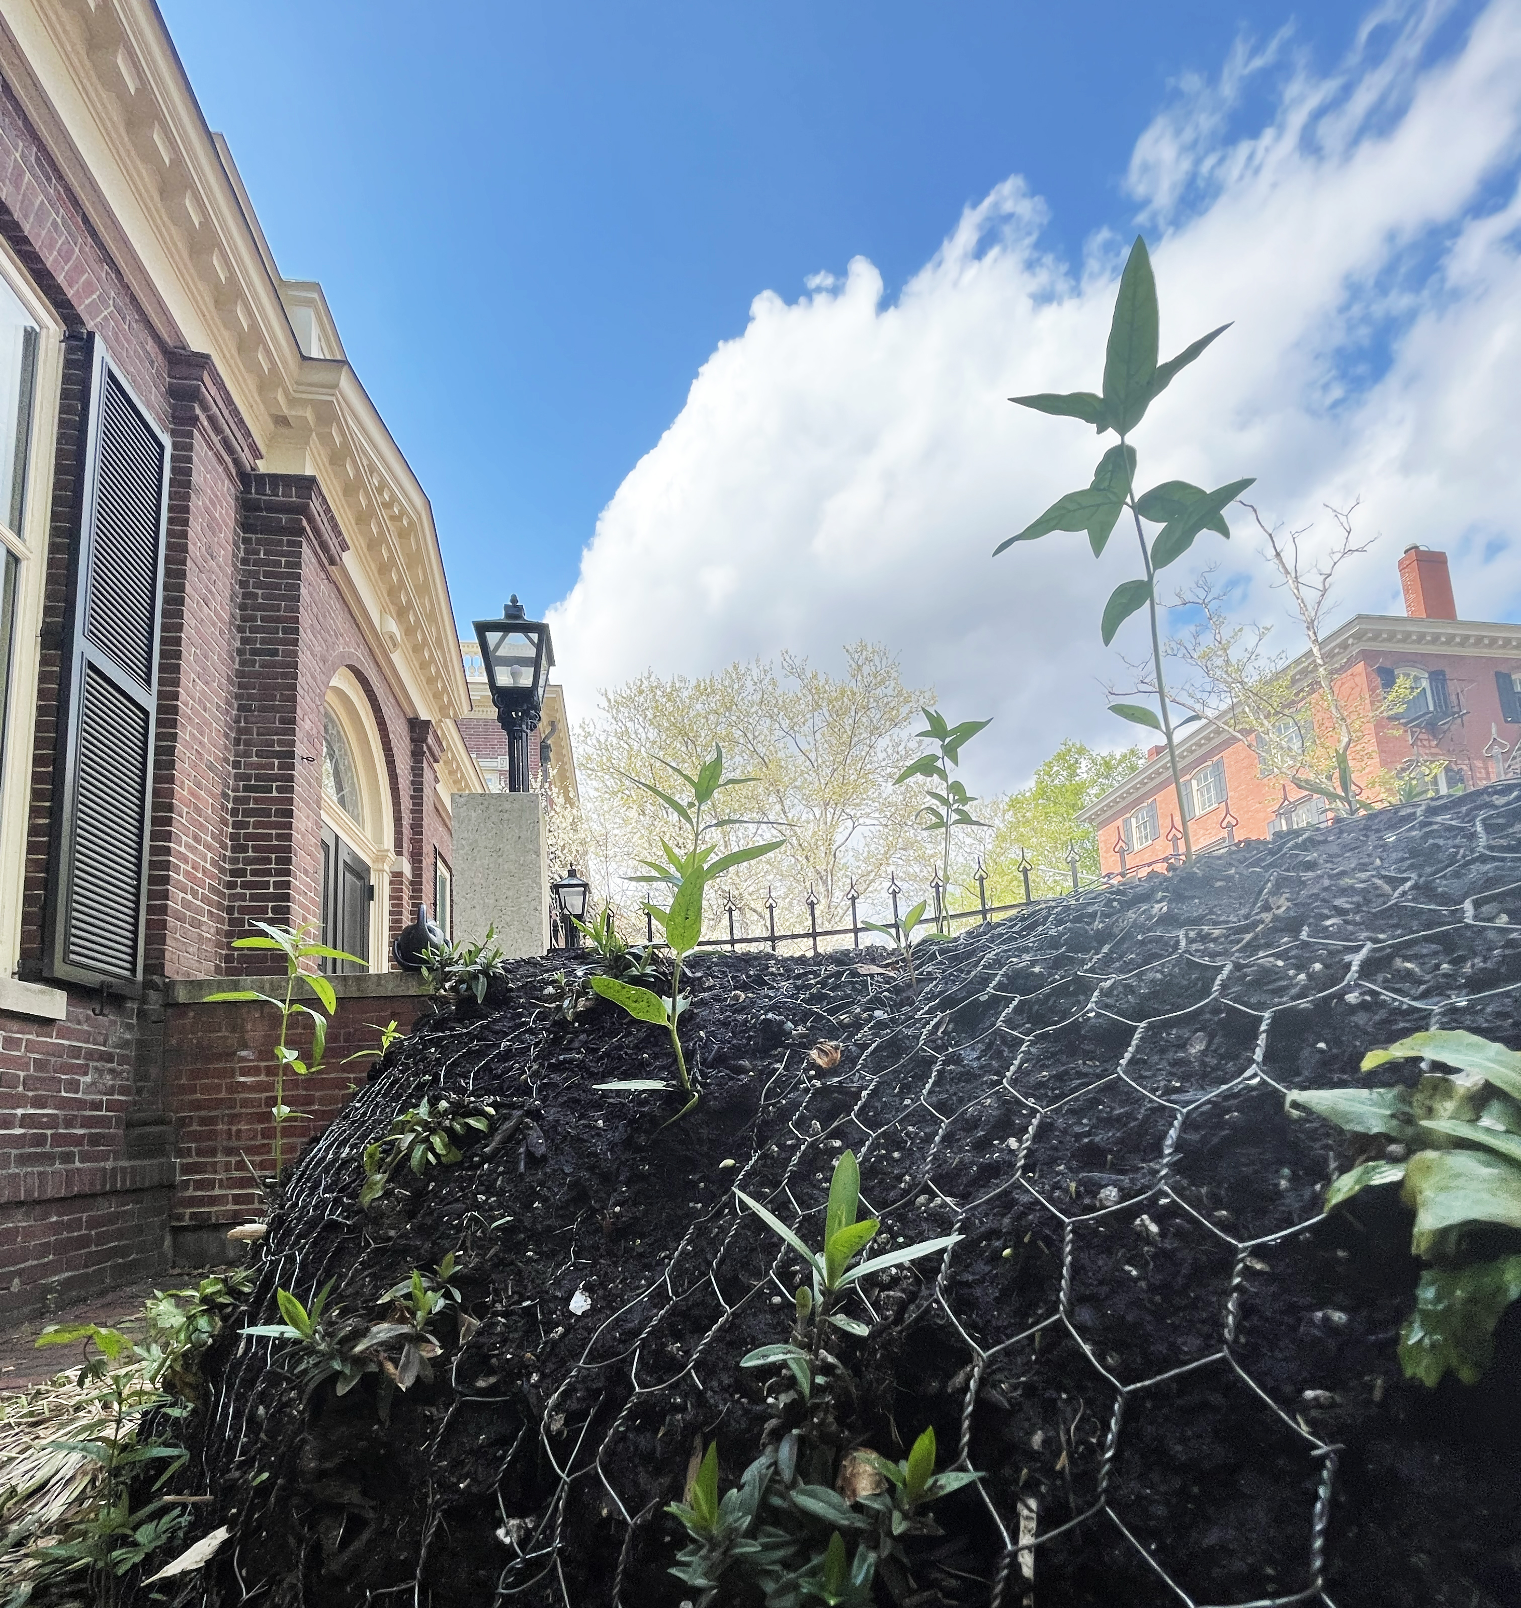
[{"label": "tallest leafy plant, long thin stem silhouetted against the cloud", "polygon": [[[1066,396],[1043,392],[1040,396],[1010,397],[1019,407],[1063,418],[1077,418],[1092,425],[1098,434],[1114,431],[1119,445],[1111,447],[1093,470],[1092,482],[1082,490],[1068,492],[1058,498],[1039,519],[994,548],[997,556],[1015,542],[1034,542],[1052,531],[1085,531],[1093,556],[1098,558],[1119,516],[1130,511],[1135,523],[1135,539],[1140,545],[1140,580],[1121,582],[1105,605],[1101,635],[1105,646],[1114,640],[1119,627],[1138,609],[1146,609],[1151,621],[1151,669],[1161,719],[1145,704],[1116,703],[1109,709],[1122,720],[1161,732],[1167,745],[1167,762],[1172,769],[1172,786],[1183,798],[1183,778],[1179,770],[1177,743],[1174,738],[1172,709],[1167,703],[1167,687],[1162,679],[1162,643],[1156,613],[1156,574],[1182,558],[1203,531],[1230,535],[1225,508],[1235,502],[1251,479],[1230,481],[1214,490],[1203,490],[1187,481],[1164,481],[1142,495],[1135,494],[1135,449],[1130,433],[1146,416],[1146,408],[1167,389],[1177,375],[1204,349],[1222,336],[1230,325],[1211,330],[1177,357],[1159,363],[1158,359],[1158,306],[1156,280],[1151,273],[1151,256],[1140,236],[1130,248],[1125,270],[1119,281],[1119,296],[1109,322],[1109,343],[1105,352],[1103,394],[1072,391]],[[1142,521],[1161,524],[1153,540],[1146,540]],[[1180,722],[1183,724],[1183,722]],[[1193,859],[1193,839],[1188,835],[1188,812],[1179,810],[1183,827],[1183,852]]]}]

